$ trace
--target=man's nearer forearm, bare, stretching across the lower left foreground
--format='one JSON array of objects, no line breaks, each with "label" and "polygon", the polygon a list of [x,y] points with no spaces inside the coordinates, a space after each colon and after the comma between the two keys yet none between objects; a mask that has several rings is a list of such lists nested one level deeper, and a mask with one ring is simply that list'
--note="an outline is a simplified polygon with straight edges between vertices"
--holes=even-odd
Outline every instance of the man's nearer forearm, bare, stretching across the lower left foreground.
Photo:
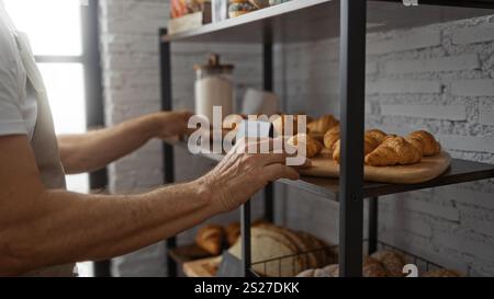
[{"label": "man's nearer forearm, bare, stretching across the lower left foreground", "polygon": [[[211,203],[207,188],[199,181],[136,196],[47,191],[31,203],[38,206],[31,208],[35,214],[0,231],[2,242],[8,242],[0,244],[4,266],[0,275],[128,253],[215,215],[220,210]],[[10,249],[7,254],[5,248]],[[2,268],[15,271],[1,273]]]}]

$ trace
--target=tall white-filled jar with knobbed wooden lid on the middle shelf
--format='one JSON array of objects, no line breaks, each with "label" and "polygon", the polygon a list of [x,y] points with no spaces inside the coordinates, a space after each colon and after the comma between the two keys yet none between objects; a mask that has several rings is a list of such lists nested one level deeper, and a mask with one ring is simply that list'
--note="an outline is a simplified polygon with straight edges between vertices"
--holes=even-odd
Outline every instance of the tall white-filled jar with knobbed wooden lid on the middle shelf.
[{"label": "tall white-filled jar with knobbed wooden lid on the middle shelf", "polygon": [[[204,116],[213,125],[213,107],[221,106],[223,117],[233,114],[235,87],[232,65],[222,65],[220,56],[212,54],[207,65],[194,66],[195,114]],[[221,119],[220,122],[222,122]]]}]

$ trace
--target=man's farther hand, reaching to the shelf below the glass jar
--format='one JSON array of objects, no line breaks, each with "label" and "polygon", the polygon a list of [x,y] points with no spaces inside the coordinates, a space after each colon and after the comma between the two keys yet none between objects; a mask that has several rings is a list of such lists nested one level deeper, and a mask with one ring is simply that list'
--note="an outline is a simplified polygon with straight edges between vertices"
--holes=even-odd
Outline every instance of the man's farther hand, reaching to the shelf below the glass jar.
[{"label": "man's farther hand, reaching to the shelf below the glass jar", "polygon": [[180,112],[158,112],[146,117],[153,123],[153,137],[166,139],[180,136],[187,133],[189,118],[193,114],[188,111]]}]

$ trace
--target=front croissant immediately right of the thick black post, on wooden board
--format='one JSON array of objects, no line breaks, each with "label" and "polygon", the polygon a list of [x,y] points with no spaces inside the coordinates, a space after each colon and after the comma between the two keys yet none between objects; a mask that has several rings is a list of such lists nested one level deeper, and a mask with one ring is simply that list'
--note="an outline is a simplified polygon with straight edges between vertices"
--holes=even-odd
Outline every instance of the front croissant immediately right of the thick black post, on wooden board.
[{"label": "front croissant immediately right of the thick black post, on wooden board", "polygon": [[366,156],[366,163],[371,166],[408,165],[420,161],[420,151],[403,137],[389,137]]}]

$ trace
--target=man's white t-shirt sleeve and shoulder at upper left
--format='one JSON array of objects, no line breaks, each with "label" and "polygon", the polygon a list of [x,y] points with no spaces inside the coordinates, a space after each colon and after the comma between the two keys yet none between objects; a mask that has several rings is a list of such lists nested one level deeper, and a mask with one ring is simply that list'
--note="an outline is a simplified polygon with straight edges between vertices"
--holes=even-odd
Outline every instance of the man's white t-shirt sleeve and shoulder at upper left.
[{"label": "man's white t-shirt sleeve and shoulder at upper left", "polygon": [[37,103],[14,37],[15,27],[0,0],[0,136],[27,135],[31,140]]}]

